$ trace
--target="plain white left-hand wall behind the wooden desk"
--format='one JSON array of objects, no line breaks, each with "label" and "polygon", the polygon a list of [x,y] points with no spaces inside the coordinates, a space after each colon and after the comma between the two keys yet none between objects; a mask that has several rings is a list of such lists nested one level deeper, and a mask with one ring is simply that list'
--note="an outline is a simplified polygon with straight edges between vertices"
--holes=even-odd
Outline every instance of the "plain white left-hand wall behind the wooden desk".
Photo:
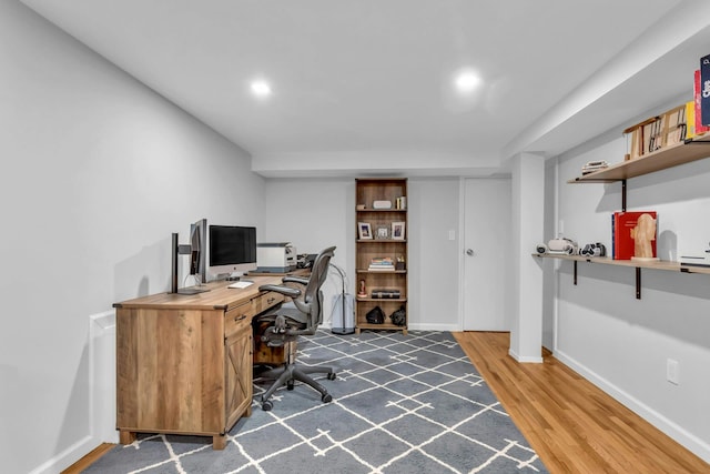
[{"label": "plain white left-hand wall behind the wooden desk", "polygon": [[184,242],[200,218],[263,226],[264,180],[12,0],[0,1],[0,471],[59,472],[106,441],[92,432],[106,403],[91,395],[89,342],[103,335],[90,324],[169,289],[172,232]]}]

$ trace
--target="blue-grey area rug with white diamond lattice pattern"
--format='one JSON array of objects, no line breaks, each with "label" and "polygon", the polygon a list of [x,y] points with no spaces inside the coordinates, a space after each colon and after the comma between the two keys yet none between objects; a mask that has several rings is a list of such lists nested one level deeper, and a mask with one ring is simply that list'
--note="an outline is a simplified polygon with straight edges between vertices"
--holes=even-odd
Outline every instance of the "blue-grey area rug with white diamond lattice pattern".
[{"label": "blue-grey area rug with white diamond lattice pattern", "polygon": [[256,380],[252,416],[224,451],[211,437],[139,435],[85,473],[546,473],[450,333],[318,331],[297,361],[332,365],[317,375],[333,395],[297,383],[264,412]]}]

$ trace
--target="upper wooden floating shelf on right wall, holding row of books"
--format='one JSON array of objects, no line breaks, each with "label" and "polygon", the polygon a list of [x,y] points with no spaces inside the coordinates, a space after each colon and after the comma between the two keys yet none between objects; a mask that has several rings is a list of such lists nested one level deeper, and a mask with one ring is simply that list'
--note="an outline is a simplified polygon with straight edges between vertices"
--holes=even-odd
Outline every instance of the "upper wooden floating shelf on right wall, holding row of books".
[{"label": "upper wooden floating shelf on right wall, holding row of books", "polygon": [[693,140],[666,147],[633,160],[612,164],[604,170],[584,174],[567,182],[570,184],[612,183],[640,177],[708,158],[710,157],[710,147],[708,145],[710,145],[710,133]]}]

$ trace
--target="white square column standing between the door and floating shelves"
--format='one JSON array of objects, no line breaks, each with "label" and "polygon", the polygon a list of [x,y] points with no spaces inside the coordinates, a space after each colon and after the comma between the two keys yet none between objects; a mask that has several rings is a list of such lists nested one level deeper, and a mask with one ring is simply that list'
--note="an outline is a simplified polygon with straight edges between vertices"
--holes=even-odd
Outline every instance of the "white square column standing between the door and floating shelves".
[{"label": "white square column standing between the door and floating shelves", "polygon": [[531,256],[544,239],[545,157],[513,158],[513,324],[509,354],[542,362],[542,264]]}]

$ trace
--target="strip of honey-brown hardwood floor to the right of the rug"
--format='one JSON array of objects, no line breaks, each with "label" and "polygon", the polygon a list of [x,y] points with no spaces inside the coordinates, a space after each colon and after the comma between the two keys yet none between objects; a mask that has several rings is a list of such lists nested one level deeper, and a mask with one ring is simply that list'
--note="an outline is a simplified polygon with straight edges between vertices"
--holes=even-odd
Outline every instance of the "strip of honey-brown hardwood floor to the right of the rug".
[{"label": "strip of honey-brown hardwood floor to the right of the rug", "polygon": [[454,336],[552,473],[710,473],[710,465],[546,351],[508,355],[509,333]]}]

